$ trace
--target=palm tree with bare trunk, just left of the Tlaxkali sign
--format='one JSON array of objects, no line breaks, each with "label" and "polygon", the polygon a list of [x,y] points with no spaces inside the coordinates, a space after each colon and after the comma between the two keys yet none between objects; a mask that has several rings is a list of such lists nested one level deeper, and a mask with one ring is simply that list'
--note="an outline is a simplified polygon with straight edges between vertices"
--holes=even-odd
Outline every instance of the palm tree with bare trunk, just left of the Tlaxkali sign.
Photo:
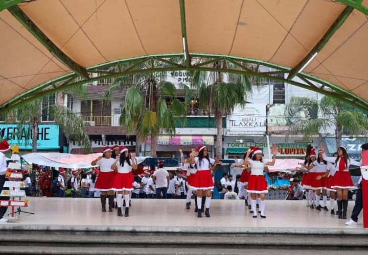
[{"label": "palm tree with bare trunk, just left of the Tlaxkali sign", "polygon": [[[214,67],[222,65],[225,68],[238,68],[237,65],[226,60],[220,60],[213,65]],[[244,106],[247,103],[247,97],[252,93],[251,82],[246,75],[233,73],[193,71],[191,75],[192,87],[198,93],[199,108],[208,111],[209,118],[211,114],[215,117],[216,156],[221,159],[222,116],[231,115],[237,105]],[[227,75],[227,82],[224,82],[224,75]]]}]

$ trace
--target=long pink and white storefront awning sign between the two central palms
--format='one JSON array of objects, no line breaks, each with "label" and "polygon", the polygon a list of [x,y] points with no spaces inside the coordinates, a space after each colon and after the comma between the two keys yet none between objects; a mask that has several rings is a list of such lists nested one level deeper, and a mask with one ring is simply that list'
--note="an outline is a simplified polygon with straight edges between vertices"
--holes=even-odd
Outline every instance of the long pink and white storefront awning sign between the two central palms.
[{"label": "long pink and white storefront awning sign between the two central palms", "polygon": [[[151,144],[151,138],[147,139]],[[157,145],[214,145],[213,136],[158,136]]]}]

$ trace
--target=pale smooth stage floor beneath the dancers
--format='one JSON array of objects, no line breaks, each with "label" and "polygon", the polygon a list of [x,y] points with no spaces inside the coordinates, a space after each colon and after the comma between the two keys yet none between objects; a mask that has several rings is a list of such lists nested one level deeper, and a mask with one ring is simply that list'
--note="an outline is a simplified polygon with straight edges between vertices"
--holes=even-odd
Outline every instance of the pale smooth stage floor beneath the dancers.
[{"label": "pale smooth stage floor beneath the dancers", "polygon": [[[194,200],[192,199],[194,205]],[[329,205],[329,201],[328,201]],[[348,220],[354,206],[349,201]],[[296,233],[351,233],[368,234],[362,225],[344,225],[330,212],[318,212],[306,207],[306,201],[266,201],[266,219],[252,218],[244,200],[212,200],[211,218],[197,218],[194,206],[186,210],[184,199],[132,199],[129,217],[118,217],[114,212],[101,212],[99,198],[29,197],[29,207],[22,208],[35,215],[21,214],[18,221],[0,224],[1,229],[72,228],[80,230],[141,230],[169,232],[296,232]],[[7,213],[10,212],[8,209]],[[124,211],[123,211],[124,214]]]}]

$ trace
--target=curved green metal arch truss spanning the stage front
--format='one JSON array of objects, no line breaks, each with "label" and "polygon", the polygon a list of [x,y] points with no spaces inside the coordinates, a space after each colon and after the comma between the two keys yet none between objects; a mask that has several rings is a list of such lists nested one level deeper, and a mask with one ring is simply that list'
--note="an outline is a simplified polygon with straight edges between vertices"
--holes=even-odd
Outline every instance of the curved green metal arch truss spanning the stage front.
[{"label": "curved green metal arch truss spanning the stage front", "polygon": [[[41,98],[47,94],[55,93],[58,91],[62,91],[65,89],[70,89],[75,86],[80,86],[86,83],[91,83],[99,80],[116,78],[121,75],[130,75],[135,73],[144,73],[144,72],[157,72],[157,71],[176,71],[176,70],[188,70],[188,71],[220,71],[227,73],[237,73],[244,74],[254,77],[259,77],[263,79],[269,79],[273,81],[279,81],[283,83],[288,83],[297,87],[309,89],[324,95],[332,96],[338,98],[352,106],[361,109],[365,112],[368,112],[368,103],[359,98],[358,96],[341,89],[340,87],[326,82],[322,79],[313,77],[312,75],[306,73],[298,73],[296,77],[300,78],[303,82],[296,81],[288,81],[285,78],[275,77],[273,74],[277,73],[289,73],[291,68],[275,65],[271,63],[267,63],[264,61],[256,60],[256,59],[248,59],[234,56],[225,56],[225,55],[216,55],[216,54],[190,54],[191,58],[194,60],[194,63],[190,67],[187,67],[186,60],[182,53],[178,54],[165,54],[165,55],[149,55],[149,56],[141,56],[134,58],[127,58],[122,60],[111,61],[108,63],[91,66],[87,69],[87,72],[90,75],[90,79],[88,81],[79,79],[78,74],[69,73],[64,75],[63,77],[48,81],[38,87],[35,87],[21,95],[16,96],[15,98],[9,100],[7,103],[0,106],[0,113],[10,111],[21,104],[27,103],[28,101],[32,101],[37,98]],[[175,62],[172,59],[175,58]],[[200,59],[200,61],[198,61]],[[152,61],[156,60],[156,61]],[[179,61],[178,61],[179,60]],[[195,61],[197,60],[197,61]],[[228,61],[232,64],[236,65],[237,68],[228,69],[224,68],[222,65],[220,67],[214,67],[213,63],[217,61]],[[109,66],[117,65],[119,63],[125,63],[125,66],[131,63],[131,65],[126,69],[121,69],[118,72],[106,71]],[[147,63],[149,68],[139,69],[136,68],[138,64]],[[165,63],[165,65],[163,65]],[[182,64],[178,64],[182,63]],[[276,69],[277,71],[269,71],[269,72],[260,72],[249,69],[246,64],[251,63],[257,66],[268,66]],[[91,74],[99,73],[101,76],[92,77]],[[312,82],[319,83],[320,85],[316,86]]]}]

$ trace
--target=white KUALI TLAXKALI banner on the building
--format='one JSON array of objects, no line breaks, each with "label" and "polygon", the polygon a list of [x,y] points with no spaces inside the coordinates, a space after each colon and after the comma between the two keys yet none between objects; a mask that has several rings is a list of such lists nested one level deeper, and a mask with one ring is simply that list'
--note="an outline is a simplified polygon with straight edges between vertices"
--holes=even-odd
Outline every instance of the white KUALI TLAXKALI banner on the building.
[{"label": "white KUALI TLAXKALI banner on the building", "polygon": [[266,105],[246,104],[237,106],[231,116],[227,117],[226,126],[229,131],[266,131]]}]

